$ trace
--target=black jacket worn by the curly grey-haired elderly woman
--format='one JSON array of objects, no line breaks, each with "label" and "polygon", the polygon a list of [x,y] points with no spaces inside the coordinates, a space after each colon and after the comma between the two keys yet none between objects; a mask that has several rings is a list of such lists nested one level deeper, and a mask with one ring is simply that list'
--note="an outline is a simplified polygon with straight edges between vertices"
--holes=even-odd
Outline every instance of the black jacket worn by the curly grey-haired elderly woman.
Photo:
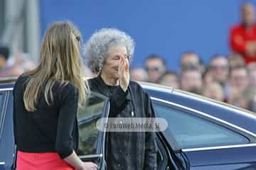
[{"label": "black jacket worn by the curly grey-haired elderly woman", "polygon": [[[107,86],[100,76],[88,82],[91,91],[110,98],[110,117],[155,117],[148,94],[136,82],[130,81],[126,92]],[[155,132],[107,132],[106,142],[107,169],[156,169]]]}]

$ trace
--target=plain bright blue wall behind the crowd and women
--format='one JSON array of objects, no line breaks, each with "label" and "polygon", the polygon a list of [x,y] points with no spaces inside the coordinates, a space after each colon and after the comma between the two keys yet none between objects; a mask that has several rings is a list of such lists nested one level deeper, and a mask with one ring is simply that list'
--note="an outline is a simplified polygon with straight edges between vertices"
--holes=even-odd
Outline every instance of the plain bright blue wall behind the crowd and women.
[{"label": "plain bright blue wall behind the crowd and women", "polygon": [[[142,67],[151,53],[178,69],[182,52],[193,50],[208,64],[216,53],[228,54],[228,30],[240,21],[242,0],[43,0],[41,33],[50,23],[70,20],[84,42],[97,29],[114,27],[134,38],[132,67]],[[250,1],[255,4],[255,1]]]}]

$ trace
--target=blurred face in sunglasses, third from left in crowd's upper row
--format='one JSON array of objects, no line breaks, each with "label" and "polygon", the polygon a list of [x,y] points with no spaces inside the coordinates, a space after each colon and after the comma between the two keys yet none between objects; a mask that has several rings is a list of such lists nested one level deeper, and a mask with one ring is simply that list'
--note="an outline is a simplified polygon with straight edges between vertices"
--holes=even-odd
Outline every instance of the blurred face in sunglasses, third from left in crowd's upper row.
[{"label": "blurred face in sunglasses, third from left in crowd's upper row", "polygon": [[217,81],[225,86],[228,81],[228,59],[222,55],[215,55],[210,59],[210,72],[213,75],[214,81]]}]

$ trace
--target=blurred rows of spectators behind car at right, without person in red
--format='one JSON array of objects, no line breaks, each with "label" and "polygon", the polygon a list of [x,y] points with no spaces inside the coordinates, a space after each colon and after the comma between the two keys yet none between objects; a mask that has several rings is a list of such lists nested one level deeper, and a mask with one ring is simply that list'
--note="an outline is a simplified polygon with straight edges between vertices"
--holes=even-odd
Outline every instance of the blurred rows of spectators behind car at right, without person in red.
[{"label": "blurred rows of spectators behind car at right, without person in red", "polygon": [[242,55],[215,55],[206,66],[196,52],[184,52],[177,72],[162,57],[149,55],[144,68],[132,68],[131,79],[171,86],[256,111],[256,62]]}]

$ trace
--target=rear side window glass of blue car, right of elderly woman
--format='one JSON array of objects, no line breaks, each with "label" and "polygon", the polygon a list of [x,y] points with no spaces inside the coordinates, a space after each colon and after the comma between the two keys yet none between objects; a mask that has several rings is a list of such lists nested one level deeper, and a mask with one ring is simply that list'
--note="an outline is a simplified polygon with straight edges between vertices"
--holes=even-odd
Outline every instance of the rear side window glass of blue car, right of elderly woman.
[{"label": "rear side window glass of blue car, right of elderly woman", "polygon": [[182,149],[237,145],[249,142],[246,137],[228,128],[185,111],[159,103],[154,103],[154,109],[157,116],[165,118],[168,122],[168,128],[165,133],[171,132],[171,135],[174,136]]}]

